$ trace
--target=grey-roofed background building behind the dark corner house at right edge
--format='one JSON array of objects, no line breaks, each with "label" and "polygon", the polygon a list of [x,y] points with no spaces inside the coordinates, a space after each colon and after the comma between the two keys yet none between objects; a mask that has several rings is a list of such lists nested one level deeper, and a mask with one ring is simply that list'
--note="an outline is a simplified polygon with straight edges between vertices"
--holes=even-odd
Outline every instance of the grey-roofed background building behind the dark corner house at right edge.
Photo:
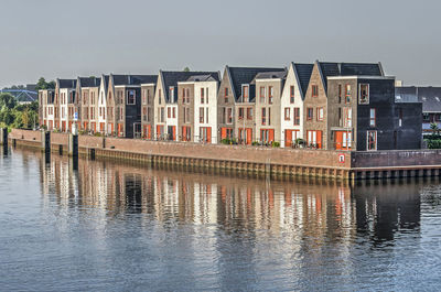
[{"label": "grey-roofed background building behind the dark corner house at right edge", "polygon": [[431,131],[431,123],[441,128],[441,87],[396,87],[395,98],[399,102],[422,102],[423,132]]}]

